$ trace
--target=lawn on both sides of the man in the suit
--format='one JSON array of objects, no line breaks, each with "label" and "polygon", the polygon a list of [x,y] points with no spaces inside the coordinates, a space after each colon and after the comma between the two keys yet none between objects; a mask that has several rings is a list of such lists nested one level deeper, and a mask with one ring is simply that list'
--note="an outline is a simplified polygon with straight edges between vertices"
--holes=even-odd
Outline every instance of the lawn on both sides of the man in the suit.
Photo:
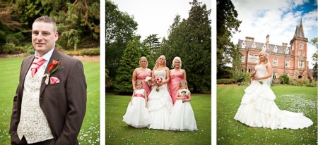
[{"label": "lawn on both sides of the man in the suit", "polygon": [[[0,144],[10,144],[8,130],[22,61],[23,58],[0,58]],[[100,144],[100,63],[83,62],[83,65],[87,108],[78,141],[80,144]]]}]

